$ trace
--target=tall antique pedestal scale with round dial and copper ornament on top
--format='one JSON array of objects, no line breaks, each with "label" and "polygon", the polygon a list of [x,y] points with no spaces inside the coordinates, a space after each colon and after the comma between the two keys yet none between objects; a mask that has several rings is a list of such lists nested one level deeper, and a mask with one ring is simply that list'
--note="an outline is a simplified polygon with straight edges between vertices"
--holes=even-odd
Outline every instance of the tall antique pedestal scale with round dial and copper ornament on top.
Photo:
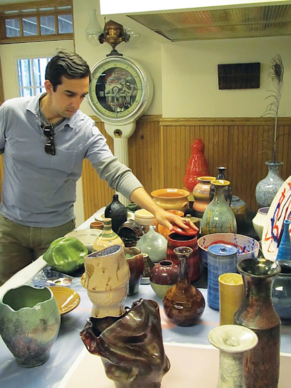
[{"label": "tall antique pedestal scale with round dial and copper ornament on top", "polygon": [[[128,139],[153,96],[153,82],[146,69],[115,49],[119,43],[128,42],[129,37],[121,24],[112,20],[105,24],[98,39],[100,43],[109,43],[112,51],[91,69],[88,94],[91,108],[104,121],[106,132],[113,138],[114,155],[126,165],[129,162]],[[123,203],[129,202],[119,196]]]}]

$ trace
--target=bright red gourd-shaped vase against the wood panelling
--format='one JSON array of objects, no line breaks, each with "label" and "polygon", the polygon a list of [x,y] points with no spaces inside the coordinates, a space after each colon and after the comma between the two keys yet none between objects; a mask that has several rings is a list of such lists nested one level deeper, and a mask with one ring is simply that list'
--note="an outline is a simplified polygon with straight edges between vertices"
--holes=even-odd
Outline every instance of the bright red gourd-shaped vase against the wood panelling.
[{"label": "bright red gourd-shaped vase against the wood panelling", "polygon": [[191,157],[187,163],[184,185],[190,193],[198,183],[197,178],[209,175],[207,159],[204,155],[205,146],[201,139],[195,139],[191,146]]}]

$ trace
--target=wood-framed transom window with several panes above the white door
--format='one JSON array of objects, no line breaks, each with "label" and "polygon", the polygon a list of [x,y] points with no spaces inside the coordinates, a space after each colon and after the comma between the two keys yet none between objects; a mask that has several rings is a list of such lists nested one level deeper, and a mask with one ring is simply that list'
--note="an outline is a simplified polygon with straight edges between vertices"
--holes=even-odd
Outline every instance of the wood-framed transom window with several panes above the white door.
[{"label": "wood-framed transom window with several panes above the white door", "polygon": [[[72,0],[0,5],[0,43],[73,38]],[[35,8],[34,8],[35,7]]]}]

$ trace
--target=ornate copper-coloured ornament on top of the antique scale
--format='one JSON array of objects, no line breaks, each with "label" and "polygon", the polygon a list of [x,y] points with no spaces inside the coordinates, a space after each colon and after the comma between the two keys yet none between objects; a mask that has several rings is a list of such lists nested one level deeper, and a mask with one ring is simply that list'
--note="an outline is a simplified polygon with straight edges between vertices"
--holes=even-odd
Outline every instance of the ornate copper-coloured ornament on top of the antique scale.
[{"label": "ornate copper-coloured ornament on top of the antique scale", "polygon": [[121,24],[116,23],[113,20],[109,20],[107,23],[105,23],[103,33],[101,33],[98,36],[98,40],[100,43],[109,43],[112,47],[112,51],[110,54],[106,55],[121,55],[117,50],[115,50],[115,47],[119,45],[121,42],[128,42],[130,38],[129,33],[124,31],[124,28]]}]

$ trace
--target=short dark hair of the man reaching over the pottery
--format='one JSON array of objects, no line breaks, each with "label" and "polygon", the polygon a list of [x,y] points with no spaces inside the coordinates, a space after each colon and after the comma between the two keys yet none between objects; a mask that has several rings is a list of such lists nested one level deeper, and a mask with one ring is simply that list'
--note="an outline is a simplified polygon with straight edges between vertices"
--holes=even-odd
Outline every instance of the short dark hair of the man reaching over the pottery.
[{"label": "short dark hair of the man reaching over the pottery", "polygon": [[55,92],[58,85],[61,85],[61,77],[69,80],[89,77],[91,81],[90,67],[83,58],[66,49],[59,49],[49,61],[46,68],[46,80],[52,84]]}]

